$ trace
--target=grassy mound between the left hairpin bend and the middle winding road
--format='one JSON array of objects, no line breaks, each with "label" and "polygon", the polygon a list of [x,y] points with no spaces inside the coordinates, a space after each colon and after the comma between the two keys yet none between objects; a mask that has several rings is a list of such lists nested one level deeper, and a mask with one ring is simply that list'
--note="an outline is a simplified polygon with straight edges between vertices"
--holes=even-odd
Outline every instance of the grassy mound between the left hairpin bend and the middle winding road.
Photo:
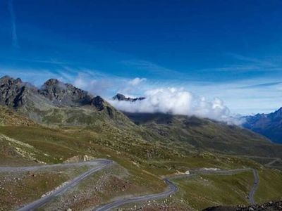
[{"label": "grassy mound between the left hairpin bend and the middle winding road", "polygon": [[[73,190],[67,191],[63,196],[45,205],[44,209],[56,210],[56,207],[61,207],[62,210],[66,210],[71,207],[73,210],[84,210],[107,203],[117,197],[140,196],[164,191],[164,187],[158,189],[158,186],[154,186],[151,181],[146,182],[142,177],[130,174],[120,165],[113,165],[87,177]],[[69,203],[68,199],[73,196],[76,196],[76,200]]]}]

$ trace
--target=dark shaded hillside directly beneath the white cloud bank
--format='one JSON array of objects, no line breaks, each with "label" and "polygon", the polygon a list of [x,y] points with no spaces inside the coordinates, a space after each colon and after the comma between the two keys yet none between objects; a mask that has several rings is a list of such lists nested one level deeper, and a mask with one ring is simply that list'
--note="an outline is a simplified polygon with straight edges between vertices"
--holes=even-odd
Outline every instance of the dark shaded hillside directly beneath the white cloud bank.
[{"label": "dark shaded hillside directly beneath the white cloud bank", "polygon": [[282,157],[282,145],[232,125],[197,117],[164,114],[127,114],[157,137],[177,146],[231,155]]}]

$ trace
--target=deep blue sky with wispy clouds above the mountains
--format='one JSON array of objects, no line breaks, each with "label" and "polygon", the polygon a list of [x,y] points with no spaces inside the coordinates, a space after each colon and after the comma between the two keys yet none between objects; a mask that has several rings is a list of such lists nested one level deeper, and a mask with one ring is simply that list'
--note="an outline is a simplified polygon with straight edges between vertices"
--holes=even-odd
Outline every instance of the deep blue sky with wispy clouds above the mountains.
[{"label": "deep blue sky with wispy clouds above the mountains", "polygon": [[269,113],[282,106],[281,20],[281,0],[1,0],[0,77]]}]

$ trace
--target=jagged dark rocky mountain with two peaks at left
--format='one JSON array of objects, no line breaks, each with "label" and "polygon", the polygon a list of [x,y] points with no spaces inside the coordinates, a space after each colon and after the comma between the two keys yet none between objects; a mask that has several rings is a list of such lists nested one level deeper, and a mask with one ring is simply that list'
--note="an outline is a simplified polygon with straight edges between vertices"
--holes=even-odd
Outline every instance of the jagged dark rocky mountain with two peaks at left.
[{"label": "jagged dark rocky mountain with two peaks at left", "polygon": [[37,88],[21,79],[1,77],[0,105],[44,124],[89,125],[99,120],[118,124],[129,122],[102,97],[92,96],[58,79],[49,79]]}]

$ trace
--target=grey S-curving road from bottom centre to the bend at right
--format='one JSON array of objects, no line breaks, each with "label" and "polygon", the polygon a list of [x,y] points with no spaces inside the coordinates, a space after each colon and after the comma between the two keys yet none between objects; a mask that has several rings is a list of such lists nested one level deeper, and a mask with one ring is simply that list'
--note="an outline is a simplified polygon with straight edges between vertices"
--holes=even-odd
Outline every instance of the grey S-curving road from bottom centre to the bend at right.
[{"label": "grey S-curving road from bottom centre to the bend at right", "polygon": [[[259,176],[257,174],[257,170],[250,169],[250,168],[245,168],[245,169],[237,169],[237,170],[194,170],[190,171],[190,174],[180,174],[180,175],[175,175],[173,177],[169,177],[169,179],[180,179],[180,178],[185,178],[185,177],[192,177],[195,174],[221,174],[221,175],[232,175],[232,174],[238,174],[240,172],[246,172],[252,170],[254,174],[254,184],[252,186],[252,189],[249,193],[249,202],[251,204],[255,203],[255,191],[257,190],[257,187],[259,186]],[[118,199],[115,200],[111,203],[108,203],[106,205],[102,205],[97,208],[93,208],[92,210],[96,211],[108,211],[111,209],[114,209],[116,207],[120,207],[125,204],[129,203],[137,203],[140,201],[146,201],[146,200],[156,200],[156,199],[161,199],[161,198],[166,198],[170,196],[173,193],[176,193],[178,191],[178,186],[176,184],[173,184],[171,180],[168,178],[165,178],[164,181],[166,184],[168,184],[168,190],[164,191],[162,193],[156,193],[156,194],[151,194],[151,195],[145,195],[145,196],[137,196],[137,197],[130,197],[130,198],[123,198],[123,199]]]}]

